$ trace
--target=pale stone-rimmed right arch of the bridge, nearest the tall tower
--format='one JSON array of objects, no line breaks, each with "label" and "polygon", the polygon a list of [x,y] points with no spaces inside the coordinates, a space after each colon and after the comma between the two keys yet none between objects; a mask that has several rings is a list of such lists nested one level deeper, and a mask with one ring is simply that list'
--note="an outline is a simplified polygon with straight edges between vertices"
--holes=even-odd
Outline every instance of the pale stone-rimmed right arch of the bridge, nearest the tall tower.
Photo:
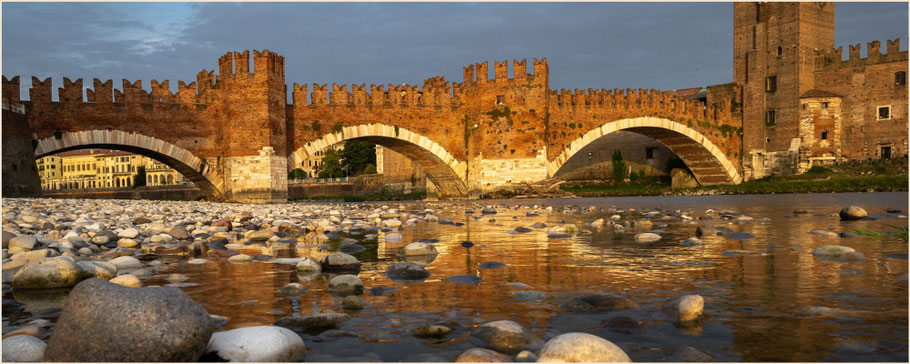
[{"label": "pale stone-rimmed right arch of the bridge, nearest the tall tower", "polygon": [[686,163],[699,184],[742,182],[736,166],[708,138],[686,125],[656,117],[616,120],[595,128],[572,141],[556,159],[548,162],[547,171],[551,176],[555,175],[582,148],[604,135],[620,130],[642,134],[665,145]]}]

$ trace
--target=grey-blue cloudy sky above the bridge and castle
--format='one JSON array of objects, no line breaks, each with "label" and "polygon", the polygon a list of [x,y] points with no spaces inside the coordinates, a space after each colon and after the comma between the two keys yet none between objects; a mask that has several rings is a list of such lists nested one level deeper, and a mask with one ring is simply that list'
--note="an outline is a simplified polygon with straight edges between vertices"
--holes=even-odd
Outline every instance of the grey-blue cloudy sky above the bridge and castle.
[{"label": "grey-blue cloudy sky above the bridge and castle", "polygon": [[[901,38],[908,4],[838,3],[836,45]],[[547,58],[551,89],[731,82],[732,3],[2,3],[2,73],[195,81],[228,51],[285,57],[298,84],[462,82],[462,67]],[[217,71],[216,71],[217,73]],[[312,87],[310,88],[312,89]],[[350,87],[348,88],[350,91]]]}]

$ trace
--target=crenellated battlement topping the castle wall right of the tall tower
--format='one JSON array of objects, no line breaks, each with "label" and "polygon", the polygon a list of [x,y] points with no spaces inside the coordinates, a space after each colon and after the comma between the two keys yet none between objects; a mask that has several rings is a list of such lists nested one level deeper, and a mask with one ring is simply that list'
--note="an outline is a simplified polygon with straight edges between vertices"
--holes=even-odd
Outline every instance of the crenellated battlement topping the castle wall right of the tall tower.
[{"label": "crenellated battlement topping the castle wall right of the tall tower", "polygon": [[848,46],[848,58],[844,58],[844,47],[837,47],[832,49],[825,49],[817,51],[815,55],[815,67],[816,70],[833,70],[840,68],[850,68],[850,67],[860,67],[860,66],[870,66],[880,63],[888,63],[895,61],[906,61],[907,52],[900,51],[900,38],[887,41],[887,49],[885,53],[881,52],[881,42],[872,41],[866,44],[867,56],[866,58],[860,57],[861,44],[849,45]]}]

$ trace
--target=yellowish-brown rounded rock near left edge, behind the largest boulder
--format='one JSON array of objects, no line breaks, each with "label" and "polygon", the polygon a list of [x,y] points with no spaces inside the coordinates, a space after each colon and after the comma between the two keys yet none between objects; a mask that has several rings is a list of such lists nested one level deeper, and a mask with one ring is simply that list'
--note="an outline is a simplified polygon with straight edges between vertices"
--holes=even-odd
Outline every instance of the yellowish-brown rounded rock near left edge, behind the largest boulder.
[{"label": "yellowish-brown rounded rock near left edge, behind the largest boulder", "polygon": [[72,287],[81,280],[82,269],[76,263],[57,257],[28,262],[13,275],[12,285],[15,288]]}]

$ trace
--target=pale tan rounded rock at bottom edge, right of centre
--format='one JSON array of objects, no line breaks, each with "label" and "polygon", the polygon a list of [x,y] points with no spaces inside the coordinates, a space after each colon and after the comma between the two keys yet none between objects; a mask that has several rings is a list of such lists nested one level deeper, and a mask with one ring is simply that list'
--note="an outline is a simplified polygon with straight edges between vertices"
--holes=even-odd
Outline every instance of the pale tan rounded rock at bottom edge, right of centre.
[{"label": "pale tan rounded rock at bottom edge, right of centre", "polygon": [[591,334],[571,332],[554,337],[540,350],[538,362],[611,363],[631,362],[613,343]]}]

